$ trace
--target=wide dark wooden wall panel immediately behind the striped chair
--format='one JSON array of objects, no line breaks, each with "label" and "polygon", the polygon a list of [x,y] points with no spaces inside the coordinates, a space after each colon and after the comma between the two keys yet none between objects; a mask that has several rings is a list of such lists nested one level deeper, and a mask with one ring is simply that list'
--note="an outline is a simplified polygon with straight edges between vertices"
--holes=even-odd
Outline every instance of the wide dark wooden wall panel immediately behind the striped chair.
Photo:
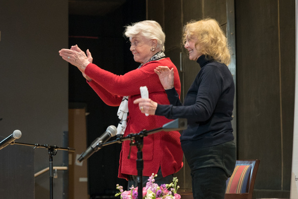
[{"label": "wide dark wooden wall panel immediately behind the striped chair", "polygon": [[[276,190],[281,187],[278,4],[235,5],[238,157],[260,159],[255,188]],[[245,17],[239,21],[237,13]]]}]

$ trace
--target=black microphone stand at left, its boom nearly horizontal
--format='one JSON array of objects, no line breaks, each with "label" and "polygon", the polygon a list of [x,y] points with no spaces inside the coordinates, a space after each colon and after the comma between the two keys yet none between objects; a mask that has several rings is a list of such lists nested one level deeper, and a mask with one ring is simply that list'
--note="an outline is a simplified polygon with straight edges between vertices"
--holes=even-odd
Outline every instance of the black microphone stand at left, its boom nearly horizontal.
[{"label": "black microphone stand at left, its boom nearly horizontal", "polygon": [[18,145],[25,145],[25,146],[32,146],[34,147],[34,149],[36,148],[46,148],[48,149],[48,153],[49,153],[49,172],[50,172],[50,199],[53,199],[53,176],[54,176],[54,169],[53,169],[53,157],[57,154],[58,150],[63,150],[63,151],[70,151],[70,152],[74,152],[75,149],[74,148],[63,148],[63,147],[59,147],[59,146],[51,146],[51,145],[40,145],[40,144],[26,144],[26,143],[19,143],[19,142],[11,142],[11,145],[13,144],[18,144]]}]

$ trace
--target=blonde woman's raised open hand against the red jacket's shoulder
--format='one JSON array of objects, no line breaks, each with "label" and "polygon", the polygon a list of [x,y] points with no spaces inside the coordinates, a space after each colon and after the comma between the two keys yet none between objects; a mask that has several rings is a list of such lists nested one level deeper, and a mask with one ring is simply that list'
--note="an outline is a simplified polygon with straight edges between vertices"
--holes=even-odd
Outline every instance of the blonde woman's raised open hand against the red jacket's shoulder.
[{"label": "blonde woman's raised open hand against the red jacket's shoulder", "polygon": [[174,69],[167,66],[158,66],[154,69],[164,90],[174,88]]}]

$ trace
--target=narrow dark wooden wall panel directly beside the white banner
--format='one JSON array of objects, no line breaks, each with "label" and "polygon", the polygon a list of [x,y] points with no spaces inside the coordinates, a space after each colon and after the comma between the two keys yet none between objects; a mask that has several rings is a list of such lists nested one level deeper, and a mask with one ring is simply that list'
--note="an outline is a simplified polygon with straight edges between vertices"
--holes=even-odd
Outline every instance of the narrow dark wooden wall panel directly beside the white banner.
[{"label": "narrow dark wooden wall panel directly beside the white banner", "polygon": [[280,1],[280,52],[282,99],[282,190],[290,190],[295,100],[295,1]]}]

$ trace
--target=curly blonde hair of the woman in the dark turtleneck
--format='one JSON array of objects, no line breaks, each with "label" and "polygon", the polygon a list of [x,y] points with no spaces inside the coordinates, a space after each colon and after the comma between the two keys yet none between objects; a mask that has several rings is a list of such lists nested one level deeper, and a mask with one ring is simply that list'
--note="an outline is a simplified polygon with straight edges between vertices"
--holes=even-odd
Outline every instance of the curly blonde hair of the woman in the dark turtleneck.
[{"label": "curly blonde hair of the woman in the dark turtleneck", "polygon": [[206,18],[188,22],[183,27],[183,44],[185,45],[187,40],[194,39],[197,39],[196,46],[200,45],[200,52],[203,55],[225,65],[230,63],[227,39],[215,19]]}]

